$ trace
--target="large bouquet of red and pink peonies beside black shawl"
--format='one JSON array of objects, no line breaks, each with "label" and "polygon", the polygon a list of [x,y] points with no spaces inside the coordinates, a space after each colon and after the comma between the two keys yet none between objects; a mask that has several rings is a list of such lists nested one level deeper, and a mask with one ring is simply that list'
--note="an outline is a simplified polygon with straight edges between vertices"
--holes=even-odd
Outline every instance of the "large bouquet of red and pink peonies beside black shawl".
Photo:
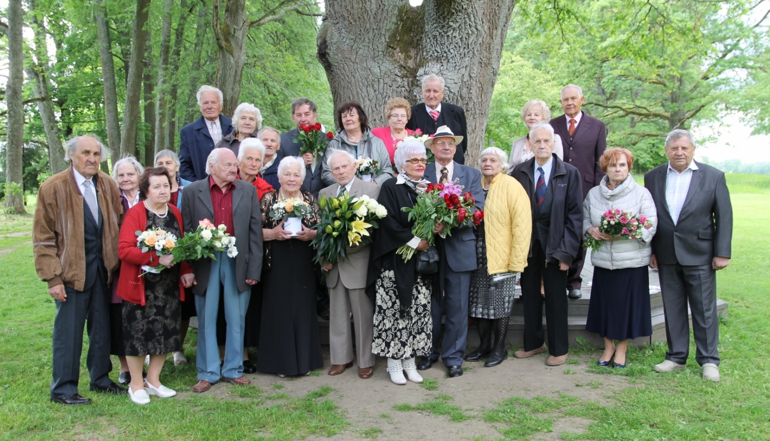
[{"label": "large bouquet of red and pink peonies beside black shawl", "polygon": [[[452,229],[463,225],[468,220],[473,220],[475,226],[479,226],[484,219],[484,211],[476,209],[473,195],[463,192],[463,186],[457,185],[459,179],[446,184],[428,184],[427,191],[417,195],[417,202],[413,207],[403,207],[404,212],[409,213],[409,220],[414,220],[412,234],[428,241],[430,246],[436,242],[434,229],[439,223],[444,224],[442,237],[451,236]],[[396,250],[407,261],[414,255],[415,249],[403,245]]]}]

